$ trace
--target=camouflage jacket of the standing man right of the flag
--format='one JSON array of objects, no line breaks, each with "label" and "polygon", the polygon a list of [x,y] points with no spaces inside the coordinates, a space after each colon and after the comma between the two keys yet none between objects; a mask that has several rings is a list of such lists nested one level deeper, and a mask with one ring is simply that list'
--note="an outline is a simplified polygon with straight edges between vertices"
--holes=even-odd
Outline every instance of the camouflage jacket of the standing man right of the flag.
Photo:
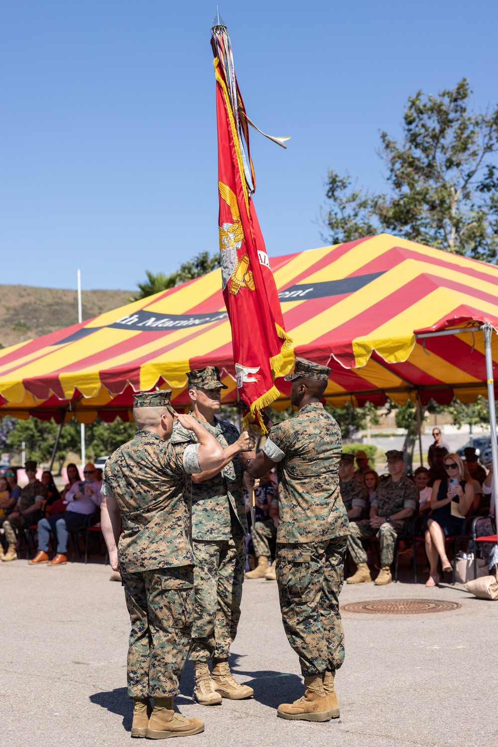
[{"label": "camouflage jacket of the standing man right of the flag", "polygon": [[341,450],[340,428],[321,403],[272,426],[263,451],[277,462],[277,542],[319,542],[348,533],[337,476]]}]

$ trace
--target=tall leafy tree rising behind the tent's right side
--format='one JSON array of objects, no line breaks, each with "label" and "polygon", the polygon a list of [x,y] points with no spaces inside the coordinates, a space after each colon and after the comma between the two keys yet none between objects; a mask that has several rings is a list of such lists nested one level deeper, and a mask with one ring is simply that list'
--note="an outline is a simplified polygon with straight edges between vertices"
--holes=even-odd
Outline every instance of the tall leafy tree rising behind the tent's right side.
[{"label": "tall leafy tree rising behind the tent's right side", "polygon": [[408,98],[402,141],[381,134],[390,193],[350,190],[329,171],[326,223],[335,242],[379,229],[485,261],[498,254],[498,106],[470,111],[465,78],[438,96]]}]

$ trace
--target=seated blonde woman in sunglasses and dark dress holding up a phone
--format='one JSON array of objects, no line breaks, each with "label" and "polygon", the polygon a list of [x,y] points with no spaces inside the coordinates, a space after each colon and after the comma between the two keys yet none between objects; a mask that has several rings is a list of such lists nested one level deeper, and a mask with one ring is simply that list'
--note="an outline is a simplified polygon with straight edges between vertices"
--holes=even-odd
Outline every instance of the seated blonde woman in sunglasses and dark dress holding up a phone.
[{"label": "seated blonde woman in sunglasses and dark dress holding up a phone", "polygon": [[432,487],[432,514],[424,521],[430,565],[426,586],[438,586],[438,558],[441,558],[443,572],[453,570],[446,555],[444,540],[445,537],[461,534],[464,517],[474,500],[470,474],[458,454],[446,454],[443,465],[448,477],[435,481]]}]

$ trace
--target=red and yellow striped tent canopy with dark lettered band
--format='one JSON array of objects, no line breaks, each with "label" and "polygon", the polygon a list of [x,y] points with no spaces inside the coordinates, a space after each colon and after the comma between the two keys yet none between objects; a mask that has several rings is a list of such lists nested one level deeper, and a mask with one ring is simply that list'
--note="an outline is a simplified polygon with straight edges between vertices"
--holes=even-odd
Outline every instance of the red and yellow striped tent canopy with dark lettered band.
[{"label": "red and yellow striped tent canopy with dark lettered band", "polygon": [[[482,334],[417,339],[417,330],[498,327],[498,268],[382,234],[271,259],[293,358],[329,364],[335,406],[407,398],[449,403],[486,395]],[[251,330],[247,329],[247,334]],[[494,360],[498,360],[493,335]],[[172,388],[188,402],[186,371],[217,365],[237,389],[220,270],[81,324],[0,350],[0,413],[131,419],[134,391]],[[288,403],[290,385],[276,382]]]}]

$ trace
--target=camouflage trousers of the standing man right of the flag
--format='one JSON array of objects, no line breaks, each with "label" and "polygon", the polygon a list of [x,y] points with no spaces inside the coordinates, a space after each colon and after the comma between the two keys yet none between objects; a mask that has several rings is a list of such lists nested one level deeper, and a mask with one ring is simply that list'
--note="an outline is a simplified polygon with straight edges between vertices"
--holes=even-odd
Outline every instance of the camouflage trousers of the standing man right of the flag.
[{"label": "camouflage trousers of the standing man right of the flag", "polygon": [[334,672],[344,660],[339,593],[346,539],[278,545],[276,577],[282,621],[304,677]]}]

